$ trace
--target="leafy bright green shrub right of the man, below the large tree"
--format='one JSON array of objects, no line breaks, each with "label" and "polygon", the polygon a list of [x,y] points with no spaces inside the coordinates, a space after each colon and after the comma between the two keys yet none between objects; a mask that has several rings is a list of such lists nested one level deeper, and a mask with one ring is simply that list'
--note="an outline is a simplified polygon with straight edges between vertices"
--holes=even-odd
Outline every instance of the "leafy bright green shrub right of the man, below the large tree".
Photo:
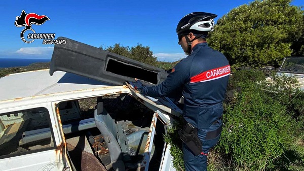
[{"label": "leafy bright green shrub right of the man, below the large tree", "polygon": [[[242,92],[224,104],[224,128],[216,148],[241,170],[289,170],[294,163],[296,169],[304,168],[303,146],[296,143],[303,137],[302,92],[294,78],[275,76],[272,83],[263,78],[258,71],[233,74],[230,86],[240,86]],[[293,155],[287,155],[290,151]]]}]

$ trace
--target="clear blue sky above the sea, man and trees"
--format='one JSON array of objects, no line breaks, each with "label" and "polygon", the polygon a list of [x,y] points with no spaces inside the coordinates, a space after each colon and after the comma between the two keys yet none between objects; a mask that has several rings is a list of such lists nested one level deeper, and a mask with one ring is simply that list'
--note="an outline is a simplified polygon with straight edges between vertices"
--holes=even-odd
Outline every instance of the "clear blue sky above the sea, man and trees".
[{"label": "clear blue sky above the sea, man and trees", "polygon": [[[14,22],[22,10],[50,18],[42,25],[32,25],[36,33],[56,33],[55,39],[66,37],[94,47],[142,44],[149,46],[159,61],[172,62],[186,57],[175,32],[184,15],[209,12],[218,15],[216,21],[249,2],[252,1],[2,1],[0,58],[51,59],[54,45],[43,45],[42,40],[29,44],[21,40],[24,27],[16,27]],[[303,6],[304,2],[294,0],[291,4]]]}]

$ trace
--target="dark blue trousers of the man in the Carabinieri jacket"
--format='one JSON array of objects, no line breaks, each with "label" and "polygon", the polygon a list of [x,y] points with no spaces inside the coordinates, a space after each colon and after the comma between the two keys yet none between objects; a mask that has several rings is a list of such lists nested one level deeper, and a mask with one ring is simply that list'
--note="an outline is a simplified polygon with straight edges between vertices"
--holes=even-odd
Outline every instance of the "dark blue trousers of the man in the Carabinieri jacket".
[{"label": "dark blue trousers of the man in the Carabinieri jacket", "polygon": [[[214,147],[220,138],[220,133],[212,139],[206,140],[207,132],[212,132],[220,129],[222,121],[219,119],[215,124],[211,125],[208,129],[198,129],[198,136],[202,142],[202,154],[194,155],[185,144],[182,145],[183,161],[186,171],[207,171],[207,155],[209,150]],[[207,136],[208,138],[208,136]]]}]

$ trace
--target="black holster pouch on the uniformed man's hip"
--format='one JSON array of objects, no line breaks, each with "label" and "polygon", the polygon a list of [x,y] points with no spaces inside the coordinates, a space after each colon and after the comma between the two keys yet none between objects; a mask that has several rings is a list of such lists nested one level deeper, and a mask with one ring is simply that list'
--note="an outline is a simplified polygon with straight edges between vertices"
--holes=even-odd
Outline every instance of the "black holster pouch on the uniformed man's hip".
[{"label": "black holster pouch on the uniformed man's hip", "polygon": [[183,130],[178,130],[179,137],[183,143],[195,154],[202,152],[202,142],[198,137],[197,129],[187,123]]}]

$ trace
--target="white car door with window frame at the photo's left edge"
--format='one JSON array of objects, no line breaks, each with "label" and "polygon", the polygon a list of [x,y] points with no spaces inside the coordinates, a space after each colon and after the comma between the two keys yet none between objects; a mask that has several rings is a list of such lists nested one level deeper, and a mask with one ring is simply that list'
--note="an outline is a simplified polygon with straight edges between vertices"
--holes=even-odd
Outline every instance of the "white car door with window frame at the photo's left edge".
[{"label": "white car door with window frame at the photo's left edge", "polygon": [[0,110],[0,170],[70,170],[48,104]]}]

